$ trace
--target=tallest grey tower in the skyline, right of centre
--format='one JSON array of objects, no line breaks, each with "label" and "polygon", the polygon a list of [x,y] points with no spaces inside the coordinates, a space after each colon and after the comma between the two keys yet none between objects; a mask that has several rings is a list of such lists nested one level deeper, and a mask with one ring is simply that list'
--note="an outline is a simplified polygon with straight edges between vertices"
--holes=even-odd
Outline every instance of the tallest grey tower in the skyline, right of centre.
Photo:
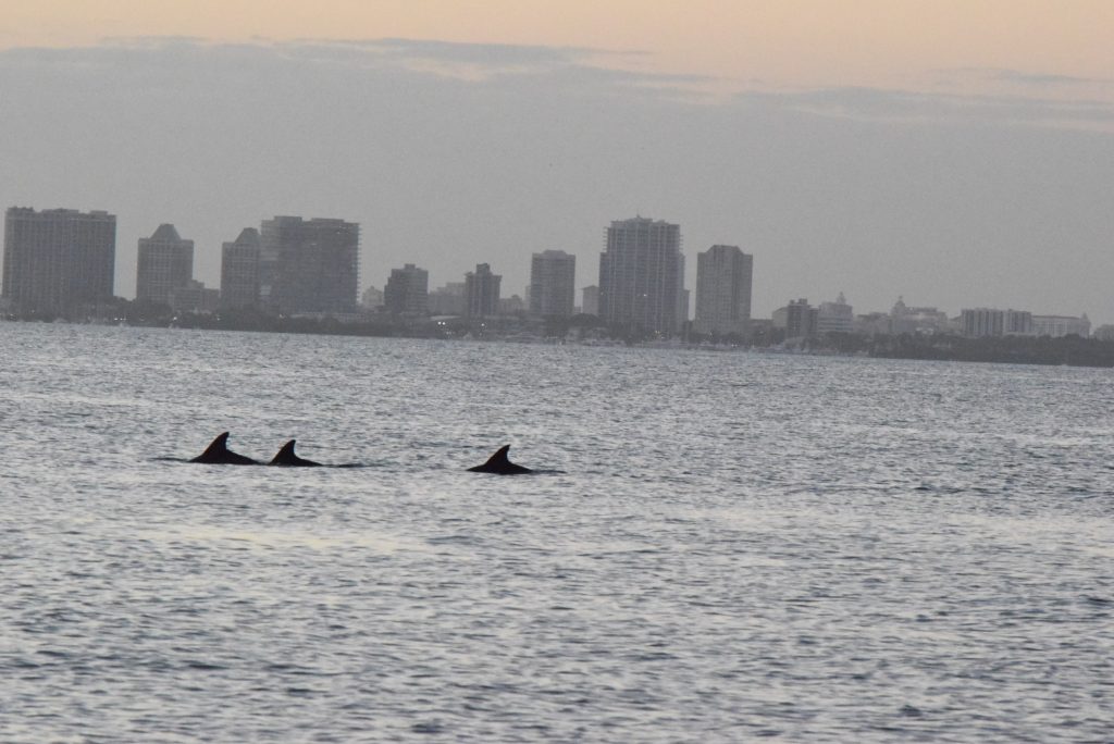
[{"label": "tallest grey tower in the skyline, right of centre", "polygon": [[635,217],[612,223],[599,256],[599,316],[663,335],[681,324],[681,226]]}]

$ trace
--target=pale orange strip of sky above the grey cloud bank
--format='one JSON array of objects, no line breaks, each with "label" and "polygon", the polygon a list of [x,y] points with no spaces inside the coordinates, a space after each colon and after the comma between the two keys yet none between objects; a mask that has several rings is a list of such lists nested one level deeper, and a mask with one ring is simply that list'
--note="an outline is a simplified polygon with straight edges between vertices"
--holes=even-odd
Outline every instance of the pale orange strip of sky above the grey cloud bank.
[{"label": "pale orange strip of sky above the grey cloud bank", "polygon": [[136,36],[214,41],[401,37],[577,46],[648,51],[649,56],[612,58],[607,63],[723,77],[740,87],[926,88],[934,82],[956,87],[960,84],[941,84],[934,71],[1000,68],[1106,78],[1114,70],[1111,0],[36,0],[9,4],[16,7],[3,12],[0,47],[87,46]]}]

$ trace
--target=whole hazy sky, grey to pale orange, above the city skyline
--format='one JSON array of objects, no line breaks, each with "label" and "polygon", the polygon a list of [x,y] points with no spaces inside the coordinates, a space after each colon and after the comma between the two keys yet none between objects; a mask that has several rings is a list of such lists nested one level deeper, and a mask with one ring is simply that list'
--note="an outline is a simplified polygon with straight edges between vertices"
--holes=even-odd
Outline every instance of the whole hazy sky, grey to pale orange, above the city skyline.
[{"label": "whole hazy sky, grey to pale orange, above the city skyline", "polygon": [[[362,227],[361,286],[681,225],[789,298],[1114,322],[1106,0],[38,0],[0,23],[0,205],[174,223],[195,273],[276,214]],[[579,298],[578,298],[579,300]]]}]

